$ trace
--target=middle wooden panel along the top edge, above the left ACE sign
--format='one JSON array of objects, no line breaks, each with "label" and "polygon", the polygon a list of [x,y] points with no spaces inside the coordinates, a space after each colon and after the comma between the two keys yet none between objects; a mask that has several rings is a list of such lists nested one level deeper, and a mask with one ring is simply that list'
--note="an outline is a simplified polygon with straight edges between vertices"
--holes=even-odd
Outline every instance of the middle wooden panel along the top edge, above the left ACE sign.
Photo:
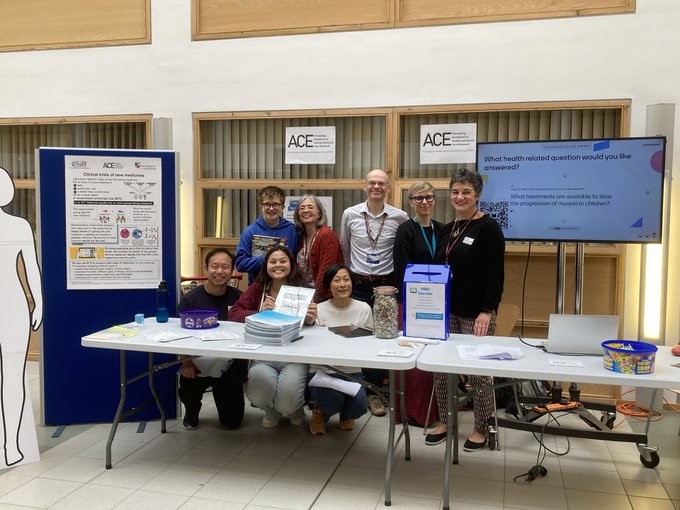
[{"label": "middle wooden panel along the top edge, above the left ACE sign", "polygon": [[193,0],[193,38],[393,25],[394,0]]}]

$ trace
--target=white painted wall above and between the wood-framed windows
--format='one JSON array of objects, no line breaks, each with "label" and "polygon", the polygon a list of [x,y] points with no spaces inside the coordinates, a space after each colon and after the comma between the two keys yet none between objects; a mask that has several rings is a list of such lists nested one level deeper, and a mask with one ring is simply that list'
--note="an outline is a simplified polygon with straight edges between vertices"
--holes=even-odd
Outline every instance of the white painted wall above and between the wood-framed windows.
[{"label": "white painted wall above and between the wood-framed windows", "polygon": [[[154,0],[152,16],[147,46],[0,53],[0,117],[171,118],[185,273],[195,225],[192,112],[630,98],[631,135],[643,136],[648,104],[680,104],[677,0],[637,0],[636,14],[617,16],[196,43],[190,2]],[[634,310],[630,294],[626,309]],[[671,296],[668,343],[680,339],[679,302]],[[634,325],[626,330],[635,334]]]}]

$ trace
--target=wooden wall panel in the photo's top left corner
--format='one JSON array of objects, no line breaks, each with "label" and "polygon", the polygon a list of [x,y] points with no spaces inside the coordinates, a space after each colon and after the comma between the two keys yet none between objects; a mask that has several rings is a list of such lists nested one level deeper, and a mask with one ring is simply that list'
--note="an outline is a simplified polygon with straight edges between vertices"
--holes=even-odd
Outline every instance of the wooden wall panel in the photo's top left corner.
[{"label": "wooden wall panel in the photo's top left corner", "polygon": [[0,0],[0,51],[151,42],[151,0]]}]

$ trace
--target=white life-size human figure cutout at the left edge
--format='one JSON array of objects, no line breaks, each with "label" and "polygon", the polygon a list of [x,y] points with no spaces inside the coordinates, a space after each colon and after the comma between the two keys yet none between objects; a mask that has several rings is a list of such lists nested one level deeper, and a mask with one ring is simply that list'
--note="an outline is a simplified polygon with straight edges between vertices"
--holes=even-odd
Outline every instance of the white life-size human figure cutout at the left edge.
[{"label": "white life-size human figure cutout at the left edge", "polygon": [[[0,469],[39,459],[25,370],[31,329],[37,330],[43,320],[42,277],[30,223],[4,210],[13,199],[12,178],[0,167]],[[20,261],[35,304],[33,310],[20,279]]]}]

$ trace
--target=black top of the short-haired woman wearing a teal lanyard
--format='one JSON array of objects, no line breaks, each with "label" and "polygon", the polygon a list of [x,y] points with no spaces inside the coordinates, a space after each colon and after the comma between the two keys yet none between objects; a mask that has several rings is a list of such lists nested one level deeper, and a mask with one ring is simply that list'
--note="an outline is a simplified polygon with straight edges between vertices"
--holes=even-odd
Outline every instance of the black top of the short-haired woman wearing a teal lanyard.
[{"label": "black top of the short-haired woman wearing a teal lanyard", "polygon": [[[440,236],[444,226],[435,220],[430,220],[430,227],[424,227],[427,242],[423,237],[420,224],[410,219],[403,222],[397,228],[394,236],[394,281],[400,286],[404,281],[406,266],[408,264],[435,264],[435,257],[430,254],[427,243],[432,246],[432,236],[437,239],[437,249],[439,249]],[[435,253],[436,255],[436,253]]]}]

